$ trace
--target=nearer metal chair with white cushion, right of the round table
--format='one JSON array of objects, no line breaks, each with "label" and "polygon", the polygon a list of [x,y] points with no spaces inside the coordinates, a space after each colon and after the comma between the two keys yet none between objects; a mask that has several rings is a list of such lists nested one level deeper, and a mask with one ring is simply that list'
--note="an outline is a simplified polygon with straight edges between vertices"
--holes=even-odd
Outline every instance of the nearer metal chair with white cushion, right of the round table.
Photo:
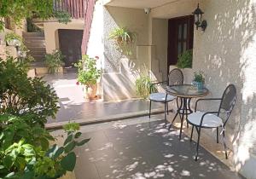
[{"label": "nearer metal chair with white cushion, right of the round table", "polygon": [[[207,112],[201,113],[197,112],[197,105],[199,101],[220,101],[218,112]],[[190,141],[192,141],[193,130],[197,131],[198,138],[197,138],[197,145],[196,145],[196,155],[195,161],[198,158],[198,147],[200,142],[201,136],[201,128],[206,129],[217,129],[217,143],[218,143],[218,128],[222,127],[222,135],[224,140],[224,150],[225,150],[225,157],[228,159],[227,148],[226,148],[226,141],[225,141],[225,124],[227,124],[228,119],[230,118],[230,114],[236,103],[236,87],[234,84],[230,84],[225,90],[224,94],[221,98],[206,98],[206,99],[199,99],[195,102],[195,113],[189,114],[188,122],[191,124],[191,136]],[[220,118],[219,115],[224,114],[223,118]]]}]

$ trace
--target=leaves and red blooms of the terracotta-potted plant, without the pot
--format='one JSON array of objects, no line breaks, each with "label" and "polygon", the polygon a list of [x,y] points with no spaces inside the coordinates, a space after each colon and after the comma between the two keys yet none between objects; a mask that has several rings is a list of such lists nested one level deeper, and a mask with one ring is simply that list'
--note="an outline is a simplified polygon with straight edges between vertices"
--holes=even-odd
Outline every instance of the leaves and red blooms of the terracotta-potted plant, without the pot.
[{"label": "leaves and red blooms of the terracotta-potted plant, without the pot", "polygon": [[81,84],[90,86],[96,84],[97,79],[101,77],[101,70],[96,67],[96,59],[83,55],[82,60],[74,64],[78,67],[78,81]]}]

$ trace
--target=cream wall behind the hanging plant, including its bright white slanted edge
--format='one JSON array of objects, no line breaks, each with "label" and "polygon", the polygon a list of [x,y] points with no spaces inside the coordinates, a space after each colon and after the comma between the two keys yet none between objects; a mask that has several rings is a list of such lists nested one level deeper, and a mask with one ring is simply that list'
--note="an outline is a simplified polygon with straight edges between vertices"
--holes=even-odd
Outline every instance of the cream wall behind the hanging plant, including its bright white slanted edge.
[{"label": "cream wall behind the hanging plant, including its bright white slanted edge", "polygon": [[[100,56],[102,66],[102,93],[104,101],[136,97],[135,80],[140,70],[150,68],[148,45],[148,15],[143,9],[125,9],[103,6],[97,1],[90,30],[87,55]],[[109,33],[117,27],[126,27],[136,33],[131,46],[132,55],[122,55]]]}]

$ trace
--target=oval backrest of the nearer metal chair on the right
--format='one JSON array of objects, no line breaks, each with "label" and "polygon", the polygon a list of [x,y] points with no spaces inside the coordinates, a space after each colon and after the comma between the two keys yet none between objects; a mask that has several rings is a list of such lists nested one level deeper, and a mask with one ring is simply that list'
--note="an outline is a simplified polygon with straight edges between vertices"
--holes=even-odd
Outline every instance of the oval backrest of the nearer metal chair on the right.
[{"label": "oval backrest of the nearer metal chair on the right", "polygon": [[226,124],[228,119],[230,118],[230,114],[232,113],[233,108],[235,107],[235,103],[236,103],[236,87],[234,84],[230,84],[224,90],[224,93],[222,95],[222,100],[220,102],[220,106],[218,110],[218,113],[221,113],[222,111],[227,113],[227,118],[224,121],[224,124]]}]

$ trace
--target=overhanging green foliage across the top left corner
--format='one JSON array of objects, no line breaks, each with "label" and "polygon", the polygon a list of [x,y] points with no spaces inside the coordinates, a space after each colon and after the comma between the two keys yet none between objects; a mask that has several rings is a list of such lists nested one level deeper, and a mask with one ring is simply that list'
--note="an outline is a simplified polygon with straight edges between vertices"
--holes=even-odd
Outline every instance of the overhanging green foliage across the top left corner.
[{"label": "overhanging green foliage across the top left corner", "polygon": [[43,20],[55,17],[63,23],[70,21],[70,14],[53,9],[53,0],[0,0],[0,4],[0,31],[3,31],[4,17],[11,17],[15,25],[20,25],[22,20],[32,17]]}]

